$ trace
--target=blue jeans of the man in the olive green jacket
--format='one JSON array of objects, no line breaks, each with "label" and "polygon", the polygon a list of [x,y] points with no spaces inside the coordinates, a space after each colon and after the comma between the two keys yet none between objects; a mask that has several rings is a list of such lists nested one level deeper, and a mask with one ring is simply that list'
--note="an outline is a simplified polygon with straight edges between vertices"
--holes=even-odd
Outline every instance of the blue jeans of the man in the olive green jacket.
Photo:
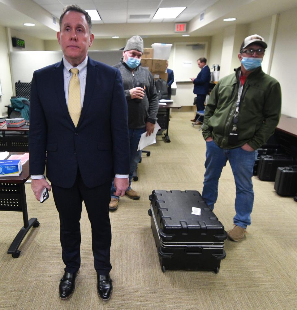
[{"label": "blue jeans of the man in the olive green jacket", "polygon": [[247,152],[241,147],[225,149],[218,147],[214,141],[206,142],[206,161],[202,197],[207,205],[213,209],[218,197],[219,178],[223,167],[229,160],[236,186],[234,224],[247,228],[251,225],[253,210],[253,166],[255,153]]}]

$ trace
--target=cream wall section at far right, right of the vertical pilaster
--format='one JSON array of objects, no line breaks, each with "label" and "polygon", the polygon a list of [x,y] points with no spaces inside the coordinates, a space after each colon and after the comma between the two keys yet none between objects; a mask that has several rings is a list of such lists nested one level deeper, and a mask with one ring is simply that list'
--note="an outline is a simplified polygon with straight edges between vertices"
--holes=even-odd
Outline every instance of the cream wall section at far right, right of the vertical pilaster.
[{"label": "cream wall section at far right, right of the vertical pilaster", "polygon": [[282,114],[297,117],[297,8],[280,14],[270,75],[282,87]]}]

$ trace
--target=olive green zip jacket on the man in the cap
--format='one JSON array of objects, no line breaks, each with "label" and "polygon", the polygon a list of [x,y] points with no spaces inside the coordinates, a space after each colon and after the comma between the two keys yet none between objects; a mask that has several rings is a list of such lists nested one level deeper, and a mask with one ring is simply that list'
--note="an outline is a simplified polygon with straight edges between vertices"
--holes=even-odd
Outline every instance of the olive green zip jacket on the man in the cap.
[{"label": "olive green zip jacket on the man in the cap", "polygon": [[228,144],[236,108],[240,67],[222,78],[212,90],[204,112],[203,138],[212,137],[221,148],[248,143],[259,148],[273,134],[281,113],[281,87],[261,67],[250,73],[243,85],[239,103],[238,144]]}]

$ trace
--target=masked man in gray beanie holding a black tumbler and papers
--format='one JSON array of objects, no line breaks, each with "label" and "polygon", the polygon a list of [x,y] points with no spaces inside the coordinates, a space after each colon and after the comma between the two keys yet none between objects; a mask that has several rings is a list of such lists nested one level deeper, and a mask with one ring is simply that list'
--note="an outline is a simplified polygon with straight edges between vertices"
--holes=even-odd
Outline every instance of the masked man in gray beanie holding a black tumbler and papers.
[{"label": "masked man in gray beanie holding a black tumbler and papers", "polygon": [[[150,71],[141,67],[140,64],[142,53],[142,38],[140,36],[133,36],[127,41],[120,63],[114,66],[120,70],[122,75],[124,92],[128,103],[130,172],[129,187],[125,191],[125,195],[134,200],[140,198],[140,195],[131,188],[133,172],[137,168],[141,158],[141,150],[137,150],[138,143],[144,132],[146,132],[146,136],[153,133],[159,109],[154,78]],[[126,178],[127,175],[116,175],[115,177]],[[115,192],[116,188],[114,182],[112,182],[110,210],[116,210],[118,208],[120,197],[116,196]]]}]

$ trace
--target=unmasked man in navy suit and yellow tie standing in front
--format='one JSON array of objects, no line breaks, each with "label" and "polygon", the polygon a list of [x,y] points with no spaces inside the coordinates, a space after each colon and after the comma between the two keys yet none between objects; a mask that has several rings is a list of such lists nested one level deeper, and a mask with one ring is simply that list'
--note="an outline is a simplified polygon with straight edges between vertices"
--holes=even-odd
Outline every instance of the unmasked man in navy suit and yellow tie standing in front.
[{"label": "unmasked man in navy suit and yellow tie standing in front", "polygon": [[[116,174],[117,195],[123,196],[129,185],[128,109],[122,78],[119,70],[88,57],[94,39],[91,27],[87,12],[76,5],[65,7],[57,33],[63,60],[35,71],[31,86],[31,187],[37,200],[43,188],[52,188],[59,212],[66,265],[59,285],[61,299],[73,293],[80,268],[82,201],[92,228],[97,292],[103,300],[110,298],[111,178]],[[73,101],[68,100],[73,98],[68,90],[71,78],[77,76],[76,107],[80,111],[80,103],[81,111],[76,124],[68,112]],[[51,186],[43,178],[45,165]]]}]

